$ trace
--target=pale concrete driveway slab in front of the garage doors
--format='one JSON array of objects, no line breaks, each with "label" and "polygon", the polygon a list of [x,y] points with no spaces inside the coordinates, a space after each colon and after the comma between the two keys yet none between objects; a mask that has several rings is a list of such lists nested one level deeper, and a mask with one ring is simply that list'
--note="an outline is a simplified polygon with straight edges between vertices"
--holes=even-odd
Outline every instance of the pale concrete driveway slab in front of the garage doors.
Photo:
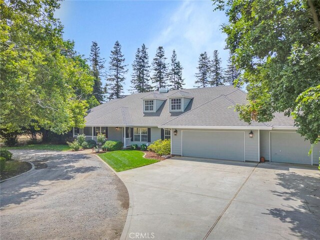
[{"label": "pale concrete driveway slab in front of the garage doors", "polygon": [[118,175],[121,239],[320,239],[316,167],[174,157]]}]

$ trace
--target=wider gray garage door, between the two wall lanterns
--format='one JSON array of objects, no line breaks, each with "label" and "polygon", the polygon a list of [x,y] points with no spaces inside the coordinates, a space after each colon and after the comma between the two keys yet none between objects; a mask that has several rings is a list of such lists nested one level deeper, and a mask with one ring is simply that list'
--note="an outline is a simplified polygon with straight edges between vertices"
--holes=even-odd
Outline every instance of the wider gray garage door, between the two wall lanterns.
[{"label": "wider gray garage door, between the two wall lanterns", "polygon": [[182,155],[244,161],[244,132],[183,130]]}]

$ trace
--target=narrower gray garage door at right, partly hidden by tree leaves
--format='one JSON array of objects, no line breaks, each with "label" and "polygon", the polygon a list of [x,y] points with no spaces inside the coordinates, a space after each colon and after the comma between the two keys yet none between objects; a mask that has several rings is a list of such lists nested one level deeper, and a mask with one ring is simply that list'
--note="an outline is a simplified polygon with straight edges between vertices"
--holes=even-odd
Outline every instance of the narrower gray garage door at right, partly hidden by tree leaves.
[{"label": "narrower gray garage door at right, partly hidden by tree leaves", "polygon": [[310,142],[296,132],[270,132],[271,161],[311,164]]}]

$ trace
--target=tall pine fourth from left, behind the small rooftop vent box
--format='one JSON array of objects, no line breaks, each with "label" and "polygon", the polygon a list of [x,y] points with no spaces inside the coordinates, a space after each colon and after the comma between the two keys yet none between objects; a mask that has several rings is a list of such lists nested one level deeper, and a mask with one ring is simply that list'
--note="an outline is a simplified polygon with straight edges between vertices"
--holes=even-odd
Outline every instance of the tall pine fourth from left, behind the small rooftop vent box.
[{"label": "tall pine fourth from left, behind the small rooftop vent box", "polygon": [[156,49],[155,57],[152,61],[154,74],[152,76],[152,83],[157,83],[157,89],[165,87],[167,78],[167,64],[165,63],[164,49],[159,46]]}]

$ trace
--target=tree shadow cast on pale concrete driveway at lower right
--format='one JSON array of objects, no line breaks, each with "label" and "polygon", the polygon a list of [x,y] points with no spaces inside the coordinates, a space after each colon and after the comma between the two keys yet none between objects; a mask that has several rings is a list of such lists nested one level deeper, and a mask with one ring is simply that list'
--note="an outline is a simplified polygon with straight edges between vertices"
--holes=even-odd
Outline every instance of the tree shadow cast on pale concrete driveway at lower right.
[{"label": "tree shadow cast on pale concrete driveway at lower right", "polygon": [[[296,206],[267,209],[268,214],[281,222],[289,223],[292,235],[301,239],[319,239],[320,235],[320,178],[295,172],[276,173],[277,185],[286,190],[273,194],[286,200],[299,201]],[[289,209],[288,209],[289,208]]]}]

